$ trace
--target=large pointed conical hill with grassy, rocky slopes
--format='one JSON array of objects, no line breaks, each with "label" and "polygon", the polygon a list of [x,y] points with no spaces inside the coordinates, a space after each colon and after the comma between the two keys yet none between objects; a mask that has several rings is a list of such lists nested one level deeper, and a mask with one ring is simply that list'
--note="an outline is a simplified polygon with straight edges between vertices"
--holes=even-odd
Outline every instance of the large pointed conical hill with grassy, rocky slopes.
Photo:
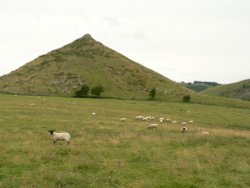
[{"label": "large pointed conical hill with grassy, rocky slopes", "polygon": [[156,88],[157,97],[181,100],[195,95],[168,78],[97,42],[89,34],[42,55],[0,78],[4,93],[72,96],[83,84],[102,85],[103,97],[146,99]]}]

